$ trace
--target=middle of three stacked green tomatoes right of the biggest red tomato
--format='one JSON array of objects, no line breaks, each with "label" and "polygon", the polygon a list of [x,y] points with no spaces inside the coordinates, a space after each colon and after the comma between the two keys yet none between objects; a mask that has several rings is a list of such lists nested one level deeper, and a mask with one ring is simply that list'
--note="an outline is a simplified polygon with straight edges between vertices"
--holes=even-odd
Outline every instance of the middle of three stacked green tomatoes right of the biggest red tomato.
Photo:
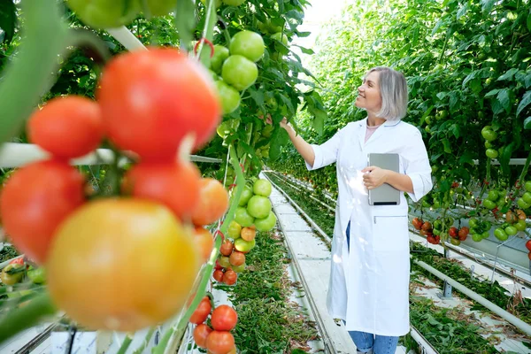
[{"label": "middle of three stacked green tomatoes right of the biggest red tomato", "polygon": [[238,91],[247,89],[258,79],[258,66],[241,55],[231,55],[221,68],[223,81]]}]

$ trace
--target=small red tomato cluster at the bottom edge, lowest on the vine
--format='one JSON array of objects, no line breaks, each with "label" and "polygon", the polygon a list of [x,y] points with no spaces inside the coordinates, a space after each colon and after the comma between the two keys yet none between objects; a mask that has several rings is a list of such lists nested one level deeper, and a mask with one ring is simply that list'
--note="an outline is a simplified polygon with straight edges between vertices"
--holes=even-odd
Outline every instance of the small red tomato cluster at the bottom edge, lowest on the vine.
[{"label": "small red tomato cluster at the bottom edge, lowest on the vine", "polygon": [[[197,346],[212,354],[235,354],[235,337],[230,331],[236,326],[238,314],[231,306],[221,304],[212,311],[212,300],[204,296],[196,311],[190,317],[194,328],[194,341]],[[210,318],[209,326],[206,321]]]}]

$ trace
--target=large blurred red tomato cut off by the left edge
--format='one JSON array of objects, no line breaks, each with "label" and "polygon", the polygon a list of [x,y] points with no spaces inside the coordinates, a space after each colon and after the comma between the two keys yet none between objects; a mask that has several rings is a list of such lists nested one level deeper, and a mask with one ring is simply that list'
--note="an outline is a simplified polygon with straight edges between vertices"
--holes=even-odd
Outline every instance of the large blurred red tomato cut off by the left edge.
[{"label": "large blurred red tomato cut off by the left edge", "polygon": [[15,247],[44,263],[58,225],[85,202],[84,185],[81,173],[56,160],[15,171],[0,195],[4,229]]}]

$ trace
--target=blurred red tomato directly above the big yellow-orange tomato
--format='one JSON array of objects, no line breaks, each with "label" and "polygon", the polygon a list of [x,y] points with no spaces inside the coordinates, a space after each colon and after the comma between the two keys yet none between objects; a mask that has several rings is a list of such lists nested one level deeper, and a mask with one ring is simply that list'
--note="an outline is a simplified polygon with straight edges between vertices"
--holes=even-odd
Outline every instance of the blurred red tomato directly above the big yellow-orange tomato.
[{"label": "blurred red tomato directly above the big yellow-orange tomato", "polygon": [[126,173],[123,190],[165,204],[177,218],[188,220],[199,200],[200,178],[190,162],[141,162]]}]

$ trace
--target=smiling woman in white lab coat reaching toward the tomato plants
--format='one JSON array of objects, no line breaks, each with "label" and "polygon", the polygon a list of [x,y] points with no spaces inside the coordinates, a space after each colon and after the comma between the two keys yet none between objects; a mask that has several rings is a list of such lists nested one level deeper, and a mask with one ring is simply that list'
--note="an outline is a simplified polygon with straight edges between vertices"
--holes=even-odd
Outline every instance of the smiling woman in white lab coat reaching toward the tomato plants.
[{"label": "smiling woman in white lab coat reaching toward the tomato plants", "polygon": [[[343,319],[358,353],[395,353],[409,332],[408,205],[370,205],[368,190],[383,183],[413,201],[432,189],[431,167],[419,130],[401,121],[407,108],[402,73],[375,67],[358,88],[367,118],[349,123],[322,145],[310,145],[284,120],[309,170],[336,163],[337,201],[327,294],[331,316]],[[368,153],[397,153],[399,173],[367,166]]]}]

